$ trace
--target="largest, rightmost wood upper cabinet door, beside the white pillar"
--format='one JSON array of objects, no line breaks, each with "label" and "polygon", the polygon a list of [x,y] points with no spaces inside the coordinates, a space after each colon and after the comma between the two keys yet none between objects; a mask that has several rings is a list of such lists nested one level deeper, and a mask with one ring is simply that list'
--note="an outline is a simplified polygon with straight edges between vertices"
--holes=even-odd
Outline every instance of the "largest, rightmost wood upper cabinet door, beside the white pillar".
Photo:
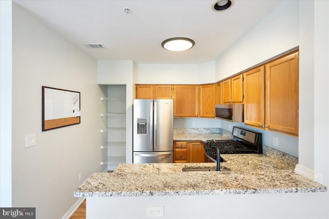
[{"label": "largest, rightmost wood upper cabinet door, beside the white pillar", "polygon": [[265,128],[298,134],[299,53],[265,65]]}]

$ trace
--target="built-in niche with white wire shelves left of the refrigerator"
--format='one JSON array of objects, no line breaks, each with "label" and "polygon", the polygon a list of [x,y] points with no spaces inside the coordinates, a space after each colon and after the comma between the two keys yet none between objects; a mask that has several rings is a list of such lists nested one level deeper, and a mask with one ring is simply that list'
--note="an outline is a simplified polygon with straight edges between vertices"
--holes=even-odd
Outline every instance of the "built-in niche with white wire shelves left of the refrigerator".
[{"label": "built-in niche with white wire shelves left of the refrigerator", "polygon": [[105,128],[100,130],[103,138],[100,146],[103,160],[100,164],[103,170],[114,170],[126,160],[126,86],[100,86],[106,93],[106,96],[100,97],[105,106],[105,112],[99,114],[105,124]]}]

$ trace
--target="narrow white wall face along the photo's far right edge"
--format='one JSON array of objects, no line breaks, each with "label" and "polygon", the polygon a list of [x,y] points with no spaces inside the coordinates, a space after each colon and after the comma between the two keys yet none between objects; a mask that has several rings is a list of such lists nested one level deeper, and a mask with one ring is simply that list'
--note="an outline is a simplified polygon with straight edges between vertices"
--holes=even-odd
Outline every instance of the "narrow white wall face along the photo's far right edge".
[{"label": "narrow white wall face along the photo's far right edge", "polygon": [[316,1],[314,11],[314,178],[317,182],[323,180],[324,185],[329,186],[329,1]]}]

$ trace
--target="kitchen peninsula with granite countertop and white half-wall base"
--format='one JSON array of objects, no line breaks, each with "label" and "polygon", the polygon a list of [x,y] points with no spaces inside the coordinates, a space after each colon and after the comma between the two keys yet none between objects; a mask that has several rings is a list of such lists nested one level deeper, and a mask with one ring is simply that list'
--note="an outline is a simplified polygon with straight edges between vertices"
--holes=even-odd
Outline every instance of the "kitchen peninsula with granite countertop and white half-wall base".
[{"label": "kitchen peninsula with granite countertop and white half-wall base", "polygon": [[[285,202],[299,200],[296,196],[321,196],[327,190],[295,173],[296,157],[267,146],[263,151],[264,154],[223,154],[226,162],[221,163],[222,171],[184,171],[215,168],[215,163],[121,164],[113,173],[93,173],[74,195],[87,197],[87,218],[144,218],[149,206],[164,206],[165,218],[213,218],[214,208],[221,209],[223,218],[258,218],[251,209],[262,205],[260,200],[269,203],[257,210],[259,218],[266,218],[265,211],[271,209],[268,194],[286,193],[276,194],[282,195],[282,202],[272,203],[285,208]],[[232,213],[232,203],[244,213]],[[292,212],[298,209],[291,208]],[[295,211],[294,216],[298,215]],[[283,217],[280,211],[271,216]]]}]

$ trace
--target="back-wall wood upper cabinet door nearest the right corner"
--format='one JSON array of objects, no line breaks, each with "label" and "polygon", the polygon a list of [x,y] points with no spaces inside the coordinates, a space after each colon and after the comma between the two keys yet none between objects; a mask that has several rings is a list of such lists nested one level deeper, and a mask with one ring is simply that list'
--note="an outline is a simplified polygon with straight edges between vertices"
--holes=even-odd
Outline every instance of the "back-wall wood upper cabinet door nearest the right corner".
[{"label": "back-wall wood upper cabinet door nearest the right corner", "polygon": [[215,117],[215,84],[199,86],[199,117]]}]

